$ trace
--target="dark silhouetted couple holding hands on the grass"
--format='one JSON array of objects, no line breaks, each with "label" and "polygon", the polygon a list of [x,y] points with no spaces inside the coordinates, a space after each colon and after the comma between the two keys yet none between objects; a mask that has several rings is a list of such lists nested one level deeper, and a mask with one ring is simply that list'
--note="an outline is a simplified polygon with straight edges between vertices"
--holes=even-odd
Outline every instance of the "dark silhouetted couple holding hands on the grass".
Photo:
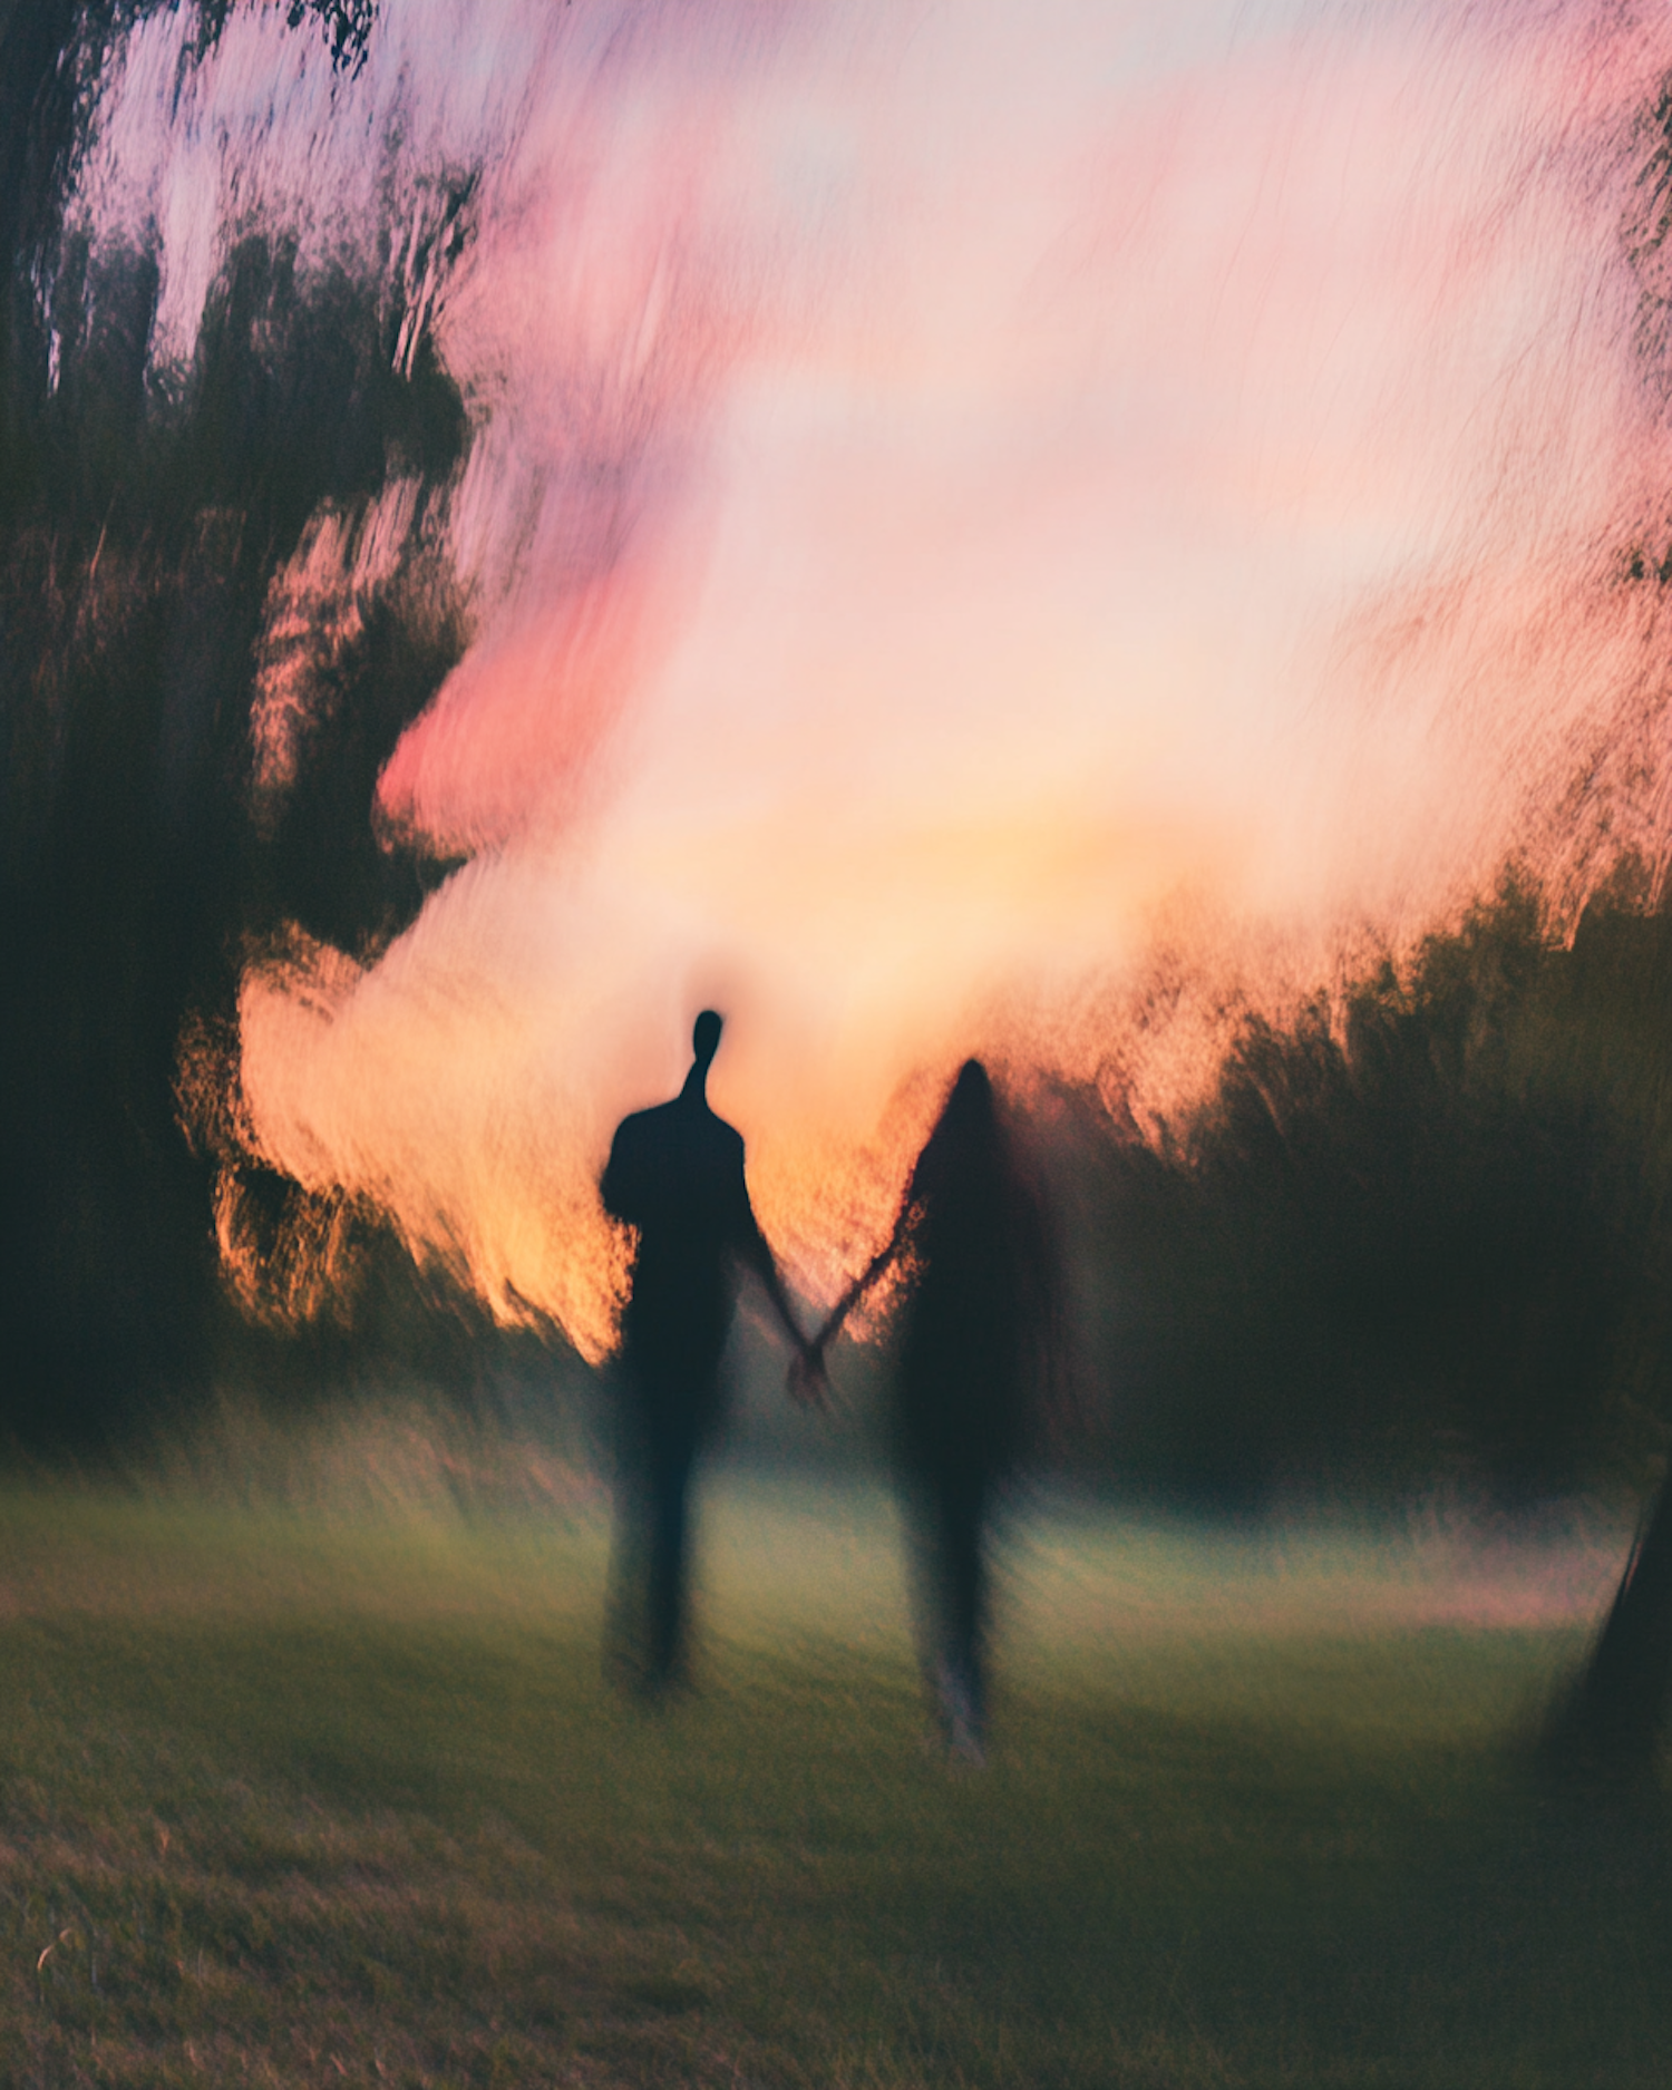
[{"label": "dark silhouetted couple holding hands on the grass", "polygon": [[892,1235],[807,1338],[748,1202],[744,1143],[709,1108],[719,1039],[721,1018],[704,1009],[683,1089],[623,1120],[600,1185],[606,1210],[637,1233],[619,1375],[614,1657],[648,1693],[686,1678],[690,1478],[719,1421],[738,1271],[754,1271],[784,1323],[792,1390],[821,1402],[826,1346],[899,1267],[909,1304],[892,1434],[918,1641],[943,1739],[978,1762],[989,1526],[1022,1448],[1028,1352],[1045,1325],[1043,1233],[993,1087],[978,1060],[963,1064]]}]

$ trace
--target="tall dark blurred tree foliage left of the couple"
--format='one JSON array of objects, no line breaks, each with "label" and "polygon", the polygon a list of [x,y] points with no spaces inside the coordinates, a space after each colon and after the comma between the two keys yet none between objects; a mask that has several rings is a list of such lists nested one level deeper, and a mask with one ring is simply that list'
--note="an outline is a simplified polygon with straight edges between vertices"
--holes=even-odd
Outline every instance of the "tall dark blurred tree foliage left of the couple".
[{"label": "tall dark blurred tree foliage left of the couple", "polygon": [[[374,228],[364,263],[311,270],[249,224],[190,366],[159,366],[155,245],[90,245],[65,219],[138,13],[0,17],[0,1440],[31,1446],[155,1430],[215,1379],[470,1394],[520,1356],[376,1214],[299,1214],[307,1193],[253,1154],[236,1091],[242,970],[297,938],[366,959],[447,872],[374,823],[378,773],[466,637],[437,504],[468,426],[418,303],[435,284],[403,268],[405,224]],[[370,13],[303,13],[353,63]],[[205,38],[224,15],[201,10]],[[426,190],[439,265],[468,194]],[[293,602],[322,531],[336,594]],[[242,1313],[217,1256],[228,1210],[245,1231],[332,1225],[351,1292],[301,1333]]]}]

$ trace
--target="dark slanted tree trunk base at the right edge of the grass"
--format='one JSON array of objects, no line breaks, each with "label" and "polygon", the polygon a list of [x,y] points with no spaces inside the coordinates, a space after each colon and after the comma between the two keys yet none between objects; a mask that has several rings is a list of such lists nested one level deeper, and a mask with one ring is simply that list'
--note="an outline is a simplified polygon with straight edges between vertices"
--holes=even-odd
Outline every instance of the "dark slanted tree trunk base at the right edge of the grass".
[{"label": "dark slanted tree trunk base at the right edge of the grass", "polygon": [[1574,1768],[1647,1779],[1672,1691],[1672,1473],[1659,1484],[1607,1622],[1551,1741]]}]

